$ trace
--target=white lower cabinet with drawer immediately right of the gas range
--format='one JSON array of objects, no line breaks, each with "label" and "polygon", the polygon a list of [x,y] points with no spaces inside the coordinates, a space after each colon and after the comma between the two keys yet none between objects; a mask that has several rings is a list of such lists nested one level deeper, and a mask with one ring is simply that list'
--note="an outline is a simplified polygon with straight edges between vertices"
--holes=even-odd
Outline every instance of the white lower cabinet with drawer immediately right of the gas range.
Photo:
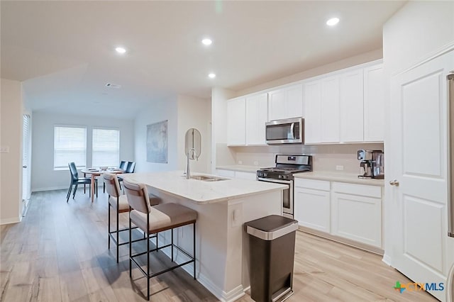
[{"label": "white lower cabinet with drawer immediately right of the gas range", "polygon": [[[308,186],[319,189],[308,189]],[[329,187],[329,181],[295,179],[294,218],[299,225],[329,233]]]}]

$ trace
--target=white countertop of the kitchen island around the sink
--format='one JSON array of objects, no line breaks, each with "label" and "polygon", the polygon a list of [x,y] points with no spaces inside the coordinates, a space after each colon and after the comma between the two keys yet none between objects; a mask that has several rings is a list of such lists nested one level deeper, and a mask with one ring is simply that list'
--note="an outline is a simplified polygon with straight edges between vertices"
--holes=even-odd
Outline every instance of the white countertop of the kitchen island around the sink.
[{"label": "white countertop of the kitchen island around the sink", "polygon": [[[210,175],[192,173],[196,175]],[[182,171],[122,174],[123,179],[131,179],[151,186],[168,194],[187,198],[196,203],[216,203],[265,192],[286,189],[283,184],[247,179],[227,179],[222,181],[201,181],[186,179]]]}]

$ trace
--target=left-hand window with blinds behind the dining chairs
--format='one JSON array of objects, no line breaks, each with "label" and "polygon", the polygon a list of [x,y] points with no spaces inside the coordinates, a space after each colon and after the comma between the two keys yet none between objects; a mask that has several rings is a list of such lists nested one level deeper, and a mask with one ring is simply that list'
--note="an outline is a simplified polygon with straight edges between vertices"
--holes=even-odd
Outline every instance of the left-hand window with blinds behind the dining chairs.
[{"label": "left-hand window with blinds behind the dining chairs", "polygon": [[87,167],[87,128],[54,127],[54,169],[68,169],[68,163]]}]

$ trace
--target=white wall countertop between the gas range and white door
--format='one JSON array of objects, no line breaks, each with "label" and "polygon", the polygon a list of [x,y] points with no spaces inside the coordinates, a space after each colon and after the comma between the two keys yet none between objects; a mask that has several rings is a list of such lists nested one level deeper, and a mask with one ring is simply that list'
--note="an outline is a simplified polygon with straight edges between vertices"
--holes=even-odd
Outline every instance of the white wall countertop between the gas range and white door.
[{"label": "white wall countertop between the gas range and white door", "polygon": [[384,179],[361,179],[358,174],[345,172],[304,172],[295,173],[295,178],[318,179],[326,181],[348,182],[350,184],[367,184],[372,186],[384,186]]}]

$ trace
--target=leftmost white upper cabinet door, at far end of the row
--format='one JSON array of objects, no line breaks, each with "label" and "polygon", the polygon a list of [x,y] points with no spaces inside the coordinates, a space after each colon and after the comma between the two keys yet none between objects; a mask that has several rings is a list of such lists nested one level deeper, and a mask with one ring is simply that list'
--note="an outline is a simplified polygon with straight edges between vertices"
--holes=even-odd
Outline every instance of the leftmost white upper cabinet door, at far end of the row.
[{"label": "leftmost white upper cabinet door, at far end of the row", "polygon": [[246,99],[241,97],[227,101],[227,145],[245,145]]}]

